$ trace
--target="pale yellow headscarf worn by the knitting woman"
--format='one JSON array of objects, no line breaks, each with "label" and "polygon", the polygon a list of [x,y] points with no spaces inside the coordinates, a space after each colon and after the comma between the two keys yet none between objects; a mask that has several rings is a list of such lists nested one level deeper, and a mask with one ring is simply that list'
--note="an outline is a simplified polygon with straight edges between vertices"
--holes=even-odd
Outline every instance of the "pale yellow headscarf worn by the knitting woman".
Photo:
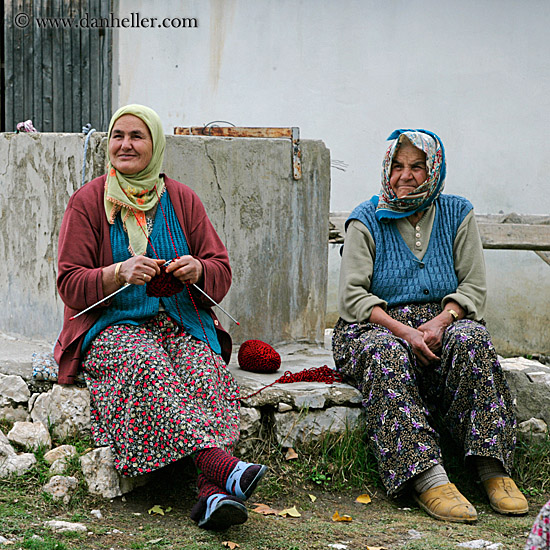
[{"label": "pale yellow headscarf worn by the knitting woman", "polygon": [[105,213],[112,224],[118,212],[121,212],[122,222],[130,240],[130,249],[139,255],[145,254],[147,250],[145,212],[155,206],[164,190],[164,180],[159,175],[164,160],[166,138],[160,118],[153,109],[144,105],[126,105],[112,116],[108,140],[111,139],[115,122],[122,115],[134,115],[145,122],[153,139],[153,155],[149,164],[137,174],[121,174],[109,159],[105,182]]}]

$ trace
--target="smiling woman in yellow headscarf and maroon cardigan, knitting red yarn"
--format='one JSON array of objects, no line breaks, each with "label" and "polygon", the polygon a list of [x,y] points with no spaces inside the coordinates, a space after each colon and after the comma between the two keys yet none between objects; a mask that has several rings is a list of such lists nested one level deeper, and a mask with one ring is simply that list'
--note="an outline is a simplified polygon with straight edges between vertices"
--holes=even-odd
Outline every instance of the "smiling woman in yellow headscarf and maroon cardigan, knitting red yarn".
[{"label": "smiling woman in yellow headscarf and maroon cardigan, knitting red yarn", "polygon": [[231,455],[240,418],[231,339],[190,286],[220,302],[231,268],[200,199],[161,173],[164,149],[153,110],[113,115],[107,174],[73,194],[61,225],[55,358],[61,384],[82,370],[92,435],[111,447],[117,470],[137,476],[192,456],[200,473],[191,517],[219,530],[246,521],[243,501],[266,468]]}]

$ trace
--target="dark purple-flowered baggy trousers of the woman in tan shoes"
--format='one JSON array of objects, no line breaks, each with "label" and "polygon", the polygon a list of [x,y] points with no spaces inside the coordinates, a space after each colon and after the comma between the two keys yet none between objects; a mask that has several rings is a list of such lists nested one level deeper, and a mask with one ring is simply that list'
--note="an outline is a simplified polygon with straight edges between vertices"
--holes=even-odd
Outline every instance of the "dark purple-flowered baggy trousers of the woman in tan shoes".
[{"label": "dark purple-flowered baggy trousers of the woman in tan shoes", "polygon": [[[392,308],[394,319],[418,327],[441,312],[438,304]],[[389,494],[441,463],[439,418],[465,457],[493,457],[509,472],[515,447],[512,398],[490,335],[462,319],[445,331],[441,360],[423,367],[410,345],[374,323],[334,328],[336,368],[363,394],[368,437]]]}]

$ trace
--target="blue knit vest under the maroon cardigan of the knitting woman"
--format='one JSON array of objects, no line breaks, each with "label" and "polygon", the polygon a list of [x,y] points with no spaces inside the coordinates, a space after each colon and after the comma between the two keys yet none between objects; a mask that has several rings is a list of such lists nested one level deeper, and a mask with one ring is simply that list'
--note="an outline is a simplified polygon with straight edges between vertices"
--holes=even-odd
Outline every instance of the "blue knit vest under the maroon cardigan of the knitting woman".
[{"label": "blue knit vest under the maroon cardigan of the knitting woman", "polygon": [[[176,249],[179,256],[189,254],[189,246],[183,233],[183,229],[176,216],[172,201],[168,192],[165,192],[161,197],[162,209],[166,215],[166,221],[160,206],[157,208],[155,215],[155,223],[153,231],[149,235],[151,241],[147,246],[146,256],[149,258],[157,258],[153,249],[158,254],[159,258],[170,260],[176,257],[172,240],[166,224],[170,227],[172,237],[176,244]],[[116,217],[115,223],[110,229],[111,248],[113,250],[113,261],[123,262],[131,257],[128,250],[129,241],[128,235],[124,231],[120,215]],[[153,247],[151,247],[151,243]],[[140,325],[145,323],[151,317],[154,317],[159,310],[159,298],[147,296],[145,285],[130,285],[128,288],[119,292],[111,301],[109,307],[103,310],[103,314],[90,328],[84,337],[82,350],[86,350],[92,340],[105,328],[110,325]],[[162,303],[166,312],[174,319],[185,331],[198,340],[206,342],[205,334],[208,337],[208,342],[215,353],[221,353],[221,346],[214,328],[212,317],[203,309],[200,309],[200,317],[204,326],[204,331],[201,327],[197,313],[191,300],[187,288],[184,288],[180,293],[170,298],[162,298]],[[197,306],[198,307],[198,306]],[[181,317],[180,317],[181,313]]]}]

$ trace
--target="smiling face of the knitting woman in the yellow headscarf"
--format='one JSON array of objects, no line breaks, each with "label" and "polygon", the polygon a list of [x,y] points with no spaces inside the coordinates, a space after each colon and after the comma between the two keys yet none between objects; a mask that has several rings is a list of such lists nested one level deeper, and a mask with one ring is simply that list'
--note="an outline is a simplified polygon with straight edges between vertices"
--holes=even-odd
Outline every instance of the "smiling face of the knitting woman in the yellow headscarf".
[{"label": "smiling face of the knitting woman in the yellow headscarf", "polygon": [[109,138],[111,164],[121,174],[137,174],[153,156],[153,139],[147,124],[134,115],[122,115]]}]

